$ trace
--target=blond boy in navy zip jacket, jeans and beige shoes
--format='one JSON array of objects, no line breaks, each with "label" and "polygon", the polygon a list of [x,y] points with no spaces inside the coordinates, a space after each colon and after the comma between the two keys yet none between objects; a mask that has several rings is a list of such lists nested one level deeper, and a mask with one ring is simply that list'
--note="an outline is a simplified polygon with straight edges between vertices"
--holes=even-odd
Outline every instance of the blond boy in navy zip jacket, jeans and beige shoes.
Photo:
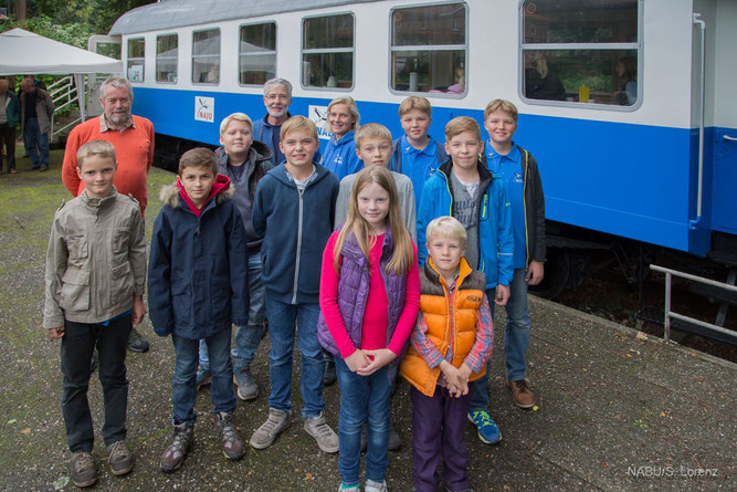
[{"label": "blond boy in navy zip jacket, jeans and beige shoes", "polygon": [[323,416],[325,360],[317,342],[317,317],[323,249],[333,232],[339,182],[313,163],[318,145],[313,122],[304,116],[287,119],[280,142],[286,161],[256,187],[253,228],[264,238],[261,254],[272,349],[269,419],[251,437],[255,449],[270,447],[289,425],[296,322],[304,427],[323,451],[338,452],[338,437]]}]

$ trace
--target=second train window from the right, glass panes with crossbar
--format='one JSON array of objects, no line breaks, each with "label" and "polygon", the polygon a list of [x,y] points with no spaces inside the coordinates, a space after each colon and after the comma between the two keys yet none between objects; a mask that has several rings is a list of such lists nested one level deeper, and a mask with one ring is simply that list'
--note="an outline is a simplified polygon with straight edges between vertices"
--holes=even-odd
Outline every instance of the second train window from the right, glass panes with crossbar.
[{"label": "second train window from the right, glass panes with crossbar", "polygon": [[467,8],[462,2],[392,10],[390,88],[465,94],[467,25]]}]

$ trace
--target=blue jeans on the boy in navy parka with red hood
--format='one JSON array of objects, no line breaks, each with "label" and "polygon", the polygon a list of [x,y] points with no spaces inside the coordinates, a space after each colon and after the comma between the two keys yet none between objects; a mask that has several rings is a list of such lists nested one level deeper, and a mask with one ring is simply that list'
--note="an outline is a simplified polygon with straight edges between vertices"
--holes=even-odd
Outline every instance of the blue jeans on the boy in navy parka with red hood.
[{"label": "blue jeans on the boy in navy parka with red hood", "polygon": [[[215,412],[235,409],[233,391],[233,363],[230,359],[230,329],[223,329],[207,337],[212,370],[210,401]],[[173,423],[194,423],[194,404],[197,401],[197,344],[198,341],[171,335],[176,360],[171,384],[171,405]]]}]

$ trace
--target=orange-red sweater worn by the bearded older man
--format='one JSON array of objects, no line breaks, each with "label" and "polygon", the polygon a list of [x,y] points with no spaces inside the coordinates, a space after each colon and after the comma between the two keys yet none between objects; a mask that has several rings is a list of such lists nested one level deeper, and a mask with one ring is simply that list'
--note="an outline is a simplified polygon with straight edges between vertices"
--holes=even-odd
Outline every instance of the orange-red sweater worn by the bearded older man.
[{"label": "orange-red sweater worn by the bearded older man", "polygon": [[146,118],[134,116],[135,127],[123,132],[108,129],[99,132],[99,118],[87,119],[74,127],[66,139],[62,181],[72,196],[76,197],[84,189],[84,184],[76,174],[76,153],[90,140],[107,140],[115,146],[118,168],[113,182],[122,195],[133,195],[140,206],[144,217],[148,203],[146,178],[154,161],[154,125]]}]

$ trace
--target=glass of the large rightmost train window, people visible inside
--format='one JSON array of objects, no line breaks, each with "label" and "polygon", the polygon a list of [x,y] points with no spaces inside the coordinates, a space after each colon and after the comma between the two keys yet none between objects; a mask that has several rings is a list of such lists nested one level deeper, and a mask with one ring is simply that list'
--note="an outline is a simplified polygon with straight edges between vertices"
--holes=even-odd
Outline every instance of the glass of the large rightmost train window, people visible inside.
[{"label": "glass of the large rightmost train window, people visible inside", "polygon": [[520,94],[529,103],[640,105],[641,0],[523,0]]}]

